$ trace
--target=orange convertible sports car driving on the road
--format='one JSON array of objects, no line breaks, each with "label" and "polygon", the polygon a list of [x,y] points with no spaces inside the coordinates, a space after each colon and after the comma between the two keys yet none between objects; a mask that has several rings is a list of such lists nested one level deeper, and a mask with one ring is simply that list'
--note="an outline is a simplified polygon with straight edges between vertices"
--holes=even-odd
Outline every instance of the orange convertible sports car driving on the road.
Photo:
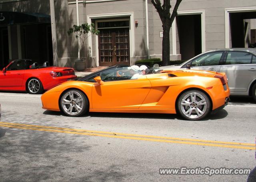
[{"label": "orange convertible sports car driving on the road", "polygon": [[[108,67],[48,90],[41,97],[42,108],[68,116],[87,112],[179,113],[185,119],[199,120],[228,104],[230,90],[224,73],[147,73],[126,65]],[[134,79],[134,74],[139,76]]]}]

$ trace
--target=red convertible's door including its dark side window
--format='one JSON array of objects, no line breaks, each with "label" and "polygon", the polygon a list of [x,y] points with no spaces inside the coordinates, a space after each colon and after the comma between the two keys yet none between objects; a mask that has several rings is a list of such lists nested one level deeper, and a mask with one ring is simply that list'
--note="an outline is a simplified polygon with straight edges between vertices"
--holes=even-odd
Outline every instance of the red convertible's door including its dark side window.
[{"label": "red convertible's door including its dark side window", "polygon": [[0,87],[12,88],[22,86],[24,71],[24,61],[14,61],[9,67],[6,68],[6,72],[2,72],[0,74]]}]

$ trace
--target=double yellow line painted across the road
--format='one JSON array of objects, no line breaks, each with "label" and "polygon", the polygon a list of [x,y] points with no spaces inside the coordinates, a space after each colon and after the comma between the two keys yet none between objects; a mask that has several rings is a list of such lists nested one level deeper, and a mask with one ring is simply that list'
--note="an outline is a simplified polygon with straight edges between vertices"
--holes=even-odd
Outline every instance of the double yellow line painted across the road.
[{"label": "double yellow line painted across the road", "polygon": [[211,147],[226,147],[226,148],[234,148],[234,149],[255,150],[255,144],[251,144],[251,143],[184,139],[184,138],[174,138],[174,137],[158,137],[158,136],[152,136],[152,135],[113,133],[113,132],[105,132],[105,131],[91,131],[91,130],[84,130],[84,129],[70,129],[70,128],[62,128],[62,127],[26,125],[21,123],[7,123],[7,122],[0,122],[0,127],[30,129],[30,130],[48,131],[48,132],[54,132],[54,133],[69,133],[69,134],[77,134],[77,135],[110,137],[110,138],[119,138],[119,139],[132,139],[132,140],[155,141],[155,142],[164,142],[164,143],[180,143],[180,144],[188,144],[188,145],[203,145],[203,146],[211,146]]}]

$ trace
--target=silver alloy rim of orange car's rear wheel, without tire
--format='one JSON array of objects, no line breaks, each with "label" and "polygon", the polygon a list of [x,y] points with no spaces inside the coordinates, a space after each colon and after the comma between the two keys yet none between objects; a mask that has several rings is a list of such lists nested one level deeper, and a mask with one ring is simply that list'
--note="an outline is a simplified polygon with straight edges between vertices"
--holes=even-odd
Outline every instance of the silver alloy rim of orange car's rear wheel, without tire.
[{"label": "silver alloy rim of orange car's rear wheel, without tire", "polygon": [[186,117],[191,119],[201,117],[207,110],[206,98],[197,92],[188,93],[182,98],[180,109]]}]

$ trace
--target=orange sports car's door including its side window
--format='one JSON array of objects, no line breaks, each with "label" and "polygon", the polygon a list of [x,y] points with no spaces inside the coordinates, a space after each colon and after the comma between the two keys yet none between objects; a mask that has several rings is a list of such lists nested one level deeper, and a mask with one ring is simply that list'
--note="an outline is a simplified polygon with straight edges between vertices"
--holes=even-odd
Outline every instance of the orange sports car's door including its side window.
[{"label": "orange sports car's door including its side window", "polygon": [[93,109],[138,109],[151,89],[145,75],[130,79],[128,67],[102,72],[100,77],[104,84],[92,87]]}]

